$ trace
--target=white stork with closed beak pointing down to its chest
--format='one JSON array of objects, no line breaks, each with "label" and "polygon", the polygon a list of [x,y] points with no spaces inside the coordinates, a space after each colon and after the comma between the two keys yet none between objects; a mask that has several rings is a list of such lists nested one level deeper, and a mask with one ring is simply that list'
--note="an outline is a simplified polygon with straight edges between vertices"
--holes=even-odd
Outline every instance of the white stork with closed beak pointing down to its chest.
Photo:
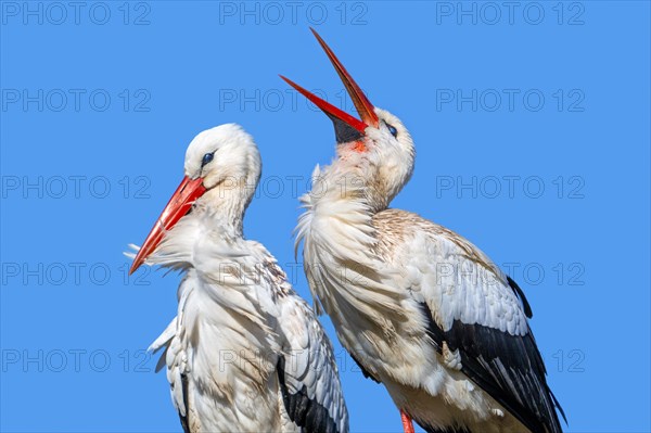
[{"label": "white stork with closed beak pointing down to its chest", "polygon": [[[186,176],[141,249],[143,263],[181,270],[165,348],[186,432],[348,431],[328,336],[276,259],[242,234],[260,177],[252,137],[234,124],[197,135]],[[131,254],[132,256],[132,254]]]}]

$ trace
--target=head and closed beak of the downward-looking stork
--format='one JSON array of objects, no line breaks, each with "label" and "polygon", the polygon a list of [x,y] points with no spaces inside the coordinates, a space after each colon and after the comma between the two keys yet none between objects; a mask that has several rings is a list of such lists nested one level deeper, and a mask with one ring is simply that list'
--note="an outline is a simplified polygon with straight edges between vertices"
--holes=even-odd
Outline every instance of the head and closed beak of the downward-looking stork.
[{"label": "head and closed beak of the downward-looking stork", "polygon": [[132,273],[193,207],[240,226],[255,192],[261,163],[253,138],[235,124],[200,132],[186,152],[186,176],[138,251]]}]

